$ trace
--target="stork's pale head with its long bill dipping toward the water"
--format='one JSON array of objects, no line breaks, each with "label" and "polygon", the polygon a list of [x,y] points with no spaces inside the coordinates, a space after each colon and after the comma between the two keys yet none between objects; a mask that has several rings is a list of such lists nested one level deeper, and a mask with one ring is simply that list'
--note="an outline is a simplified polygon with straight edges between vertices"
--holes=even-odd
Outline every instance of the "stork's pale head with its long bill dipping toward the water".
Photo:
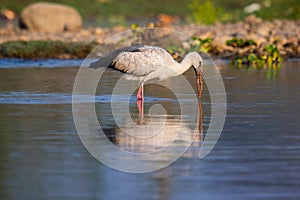
[{"label": "stork's pale head with its long bill dipping toward the water", "polygon": [[201,97],[203,87],[203,59],[197,52],[188,53],[186,58],[190,61],[191,66],[195,70],[197,94],[198,97]]}]

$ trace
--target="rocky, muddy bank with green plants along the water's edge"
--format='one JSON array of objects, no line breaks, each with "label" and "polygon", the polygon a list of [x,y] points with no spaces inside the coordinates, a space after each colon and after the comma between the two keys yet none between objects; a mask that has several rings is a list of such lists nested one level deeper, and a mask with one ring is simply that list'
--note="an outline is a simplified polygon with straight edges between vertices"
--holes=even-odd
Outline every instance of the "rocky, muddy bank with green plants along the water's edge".
[{"label": "rocky, muddy bank with green plants along the water's edge", "polygon": [[[127,37],[126,34],[125,36],[119,34],[128,30],[120,26],[110,29],[96,27],[63,33],[13,31],[7,27],[0,29],[0,57],[24,58],[22,56],[24,55],[23,51],[28,49],[26,49],[26,46],[22,47],[22,44],[27,45],[31,51],[32,48],[37,48],[37,51],[48,51],[43,53],[44,58],[68,59],[84,58],[97,44],[102,44],[104,49],[108,46],[113,49],[118,46],[137,43],[159,45],[171,50],[173,48],[174,51],[176,48],[185,49],[186,51],[189,49],[197,50],[194,47],[198,45],[200,47],[198,48],[199,51],[208,52],[215,57],[231,59],[245,57],[250,54],[263,56],[266,53],[266,48],[272,45],[276,47],[283,58],[300,57],[300,21],[262,21],[259,18],[250,16],[243,22],[232,24],[215,24],[211,26],[191,24],[168,26],[166,28],[168,29],[151,29],[152,31],[148,29],[150,31],[144,31],[132,27],[129,30],[130,35]],[[192,39],[187,39],[185,36],[177,37],[178,35],[174,35],[174,31],[171,30],[193,37]],[[114,39],[109,39],[114,34],[117,34]],[[14,42],[11,43],[12,41]],[[41,48],[40,45],[30,45],[32,41],[47,41],[48,45],[46,46],[48,47]],[[67,45],[63,45],[66,50],[61,51],[62,53],[59,53],[60,51],[53,53],[55,48],[61,48],[61,46],[50,45],[49,41],[66,43]],[[68,51],[72,46],[71,44],[76,44],[76,54],[72,50]],[[81,48],[82,52],[80,52]],[[14,53],[11,53],[11,51],[14,51]],[[181,53],[184,52],[181,51]],[[38,56],[36,53],[26,54],[25,58],[36,58],[36,56]]]}]

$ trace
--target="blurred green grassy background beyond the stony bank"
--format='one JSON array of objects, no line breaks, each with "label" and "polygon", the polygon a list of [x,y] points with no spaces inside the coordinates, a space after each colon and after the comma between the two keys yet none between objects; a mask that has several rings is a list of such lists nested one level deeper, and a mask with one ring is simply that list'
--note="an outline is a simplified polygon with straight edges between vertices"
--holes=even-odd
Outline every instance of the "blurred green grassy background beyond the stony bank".
[{"label": "blurred green grassy background beyond the stony bank", "polygon": [[[2,0],[0,9],[19,14],[35,0]],[[123,25],[153,21],[165,13],[180,18],[181,23],[213,24],[243,20],[255,14],[265,20],[300,19],[299,0],[50,0],[74,7],[82,15],[85,25]]]}]

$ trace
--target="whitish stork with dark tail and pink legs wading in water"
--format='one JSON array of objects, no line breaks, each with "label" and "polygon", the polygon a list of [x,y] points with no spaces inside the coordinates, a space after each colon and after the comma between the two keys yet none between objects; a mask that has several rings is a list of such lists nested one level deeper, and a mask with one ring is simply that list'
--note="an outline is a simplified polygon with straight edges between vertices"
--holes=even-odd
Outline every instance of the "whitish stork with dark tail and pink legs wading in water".
[{"label": "whitish stork with dark tail and pink legs wading in water", "polygon": [[189,52],[178,63],[164,49],[157,46],[135,45],[124,47],[91,63],[91,68],[107,67],[126,74],[125,79],[139,81],[138,100],[144,100],[144,83],[158,79],[163,81],[178,76],[190,67],[196,73],[197,95],[203,87],[203,59],[197,52]]}]

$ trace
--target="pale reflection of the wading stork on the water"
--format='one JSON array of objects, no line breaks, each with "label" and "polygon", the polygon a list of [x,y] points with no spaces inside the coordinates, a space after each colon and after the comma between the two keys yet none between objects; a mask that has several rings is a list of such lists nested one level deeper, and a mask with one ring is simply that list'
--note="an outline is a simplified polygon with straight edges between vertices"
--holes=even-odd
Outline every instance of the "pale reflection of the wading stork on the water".
[{"label": "pale reflection of the wading stork on the water", "polygon": [[178,102],[175,103],[177,106],[174,102],[159,102],[167,113],[152,114],[150,112],[149,114],[149,108],[156,103],[145,104],[143,115],[135,106],[132,106],[131,118],[122,115],[114,116],[124,118],[121,120],[122,124],[105,128],[105,135],[120,149],[134,153],[150,153],[166,146],[200,147],[203,140],[202,103],[198,103],[197,116],[187,117],[180,115]]}]

